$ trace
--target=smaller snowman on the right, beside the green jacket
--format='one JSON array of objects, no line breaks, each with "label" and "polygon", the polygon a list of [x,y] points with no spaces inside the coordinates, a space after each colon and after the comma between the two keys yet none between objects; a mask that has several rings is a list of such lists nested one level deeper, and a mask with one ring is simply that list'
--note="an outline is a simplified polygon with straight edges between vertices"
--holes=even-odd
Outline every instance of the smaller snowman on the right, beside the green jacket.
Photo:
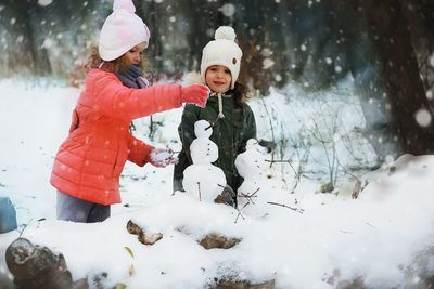
[{"label": "smaller snowman on the right, beside the green jacket", "polygon": [[243,208],[247,202],[254,202],[254,198],[257,197],[264,161],[258,142],[254,139],[248,140],[246,150],[235,159],[238,173],[244,178],[244,182],[237,191],[239,208]]}]

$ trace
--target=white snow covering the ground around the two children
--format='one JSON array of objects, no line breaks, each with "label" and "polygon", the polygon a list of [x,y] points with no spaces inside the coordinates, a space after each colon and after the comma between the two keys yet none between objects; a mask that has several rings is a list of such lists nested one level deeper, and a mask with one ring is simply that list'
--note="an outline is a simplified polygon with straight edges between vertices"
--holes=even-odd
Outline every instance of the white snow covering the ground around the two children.
[{"label": "white snow covering the ground around the two children", "polygon": [[[62,252],[74,279],[88,276],[91,283],[106,273],[107,288],[123,283],[140,289],[205,288],[216,278],[256,284],[275,279],[277,288],[334,288],[339,281],[360,278],[372,288],[417,288],[423,286],[418,274],[434,274],[432,257],[420,272],[411,266],[433,246],[433,156],[404,156],[360,176],[365,189],[357,199],[350,196],[355,180],[345,181],[345,175],[340,175],[336,194],[316,193],[324,181],[315,176],[327,172],[326,155],[333,147],[307,140],[311,128],[333,140],[341,163],[350,163],[355,154],[363,158],[362,165],[374,159],[363,140],[344,137],[363,126],[357,103],[335,102],[339,93],[352,95],[345,88],[309,98],[289,87],[285,95],[273,91],[251,102],[259,139],[275,136],[283,144],[276,158],[294,154],[292,166],[297,169],[309,152],[298,182],[289,163],[265,163],[255,203],[239,212],[182,193],[173,195],[171,167],[127,165],[123,203],[113,206],[112,218],[99,224],[55,221],[55,191],[49,184],[53,156],[66,136],[79,90],[1,80],[0,91],[0,195],[15,205],[22,236]],[[178,150],[181,113],[154,116],[162,126],[149,142]],[[149,121],[135,121],[138,137],[149,140]],[[330,130],[333,121],[336,130]],[[358,146],[353,155],[345,150],[348,142]],[[163,238],[142,245],[127,232],[128,220]],[[3,252],[20,232],[0,235],[0,275],[8,273]],[[242,240],[231,249],[205,250],[199,241],[210,233]]]}]

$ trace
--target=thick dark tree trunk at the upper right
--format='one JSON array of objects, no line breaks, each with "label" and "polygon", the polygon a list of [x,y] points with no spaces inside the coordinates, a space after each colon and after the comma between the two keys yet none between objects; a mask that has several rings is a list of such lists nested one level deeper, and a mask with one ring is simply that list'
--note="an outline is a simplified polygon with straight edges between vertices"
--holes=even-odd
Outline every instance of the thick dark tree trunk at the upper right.
[{"label": "thick dark tree trunk at the upper right", "polygon": [[395,0],[359,0],[359,5],[367,18],[368,36],[379,54],[380,78],[400,147],[404,153],[413,155],[433,153],[433,111],[419,77],[400,4]]}]

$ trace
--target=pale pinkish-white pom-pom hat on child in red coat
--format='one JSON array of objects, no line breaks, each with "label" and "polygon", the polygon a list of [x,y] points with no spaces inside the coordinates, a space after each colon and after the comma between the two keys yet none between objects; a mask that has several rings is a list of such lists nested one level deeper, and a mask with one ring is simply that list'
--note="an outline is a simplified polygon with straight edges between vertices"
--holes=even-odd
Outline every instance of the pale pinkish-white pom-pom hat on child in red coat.
[{"label": "pale pinkish-white pom-pom hat on child in red coat", "polygon": [[116,60],[141,42],[148,47],[151,34],[135,12],[132,0],[114,0],[113,13],[102,26],[98,45],[103,61]]}]

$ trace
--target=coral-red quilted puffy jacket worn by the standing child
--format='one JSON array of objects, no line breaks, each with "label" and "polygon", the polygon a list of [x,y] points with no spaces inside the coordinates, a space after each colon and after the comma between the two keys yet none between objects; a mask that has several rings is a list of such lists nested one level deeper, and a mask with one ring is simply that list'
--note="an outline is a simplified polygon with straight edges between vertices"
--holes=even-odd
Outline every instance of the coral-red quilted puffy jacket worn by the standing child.
[{"label": "coral-red quilted puffy jacket worn by the standing child", "polygon": [[131,120],[180,106],[178,84],[129,89],[114,74],[91,69],[69,135],[55,157],[51,184],[87,201],[120,202],[119,175],[126,160],[144,166],[153,149],[131,135]]}]

